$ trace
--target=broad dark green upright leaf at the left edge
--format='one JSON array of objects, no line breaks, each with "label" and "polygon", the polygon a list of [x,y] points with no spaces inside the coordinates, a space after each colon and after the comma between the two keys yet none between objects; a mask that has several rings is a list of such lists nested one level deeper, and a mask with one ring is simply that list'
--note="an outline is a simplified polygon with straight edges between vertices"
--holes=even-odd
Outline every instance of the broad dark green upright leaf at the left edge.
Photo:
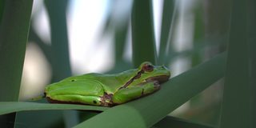
[{"label": "broad dark green upright leaf at the left edge", "polygon": [[0,101],[18,101],[33,0],[8,0],[0,30]]}]

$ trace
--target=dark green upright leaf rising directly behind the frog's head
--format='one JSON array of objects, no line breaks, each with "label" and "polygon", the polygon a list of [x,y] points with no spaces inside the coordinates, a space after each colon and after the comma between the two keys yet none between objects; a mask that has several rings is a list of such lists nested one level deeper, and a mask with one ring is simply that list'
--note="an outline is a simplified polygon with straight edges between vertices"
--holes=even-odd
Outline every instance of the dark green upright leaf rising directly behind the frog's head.
[{"label": "dark green upright leaf rising directly behind the frog's head", "polygon": [[156,63],[152,2],[134,1],[132,16],[132,48],[134,66],[142,62]]}]

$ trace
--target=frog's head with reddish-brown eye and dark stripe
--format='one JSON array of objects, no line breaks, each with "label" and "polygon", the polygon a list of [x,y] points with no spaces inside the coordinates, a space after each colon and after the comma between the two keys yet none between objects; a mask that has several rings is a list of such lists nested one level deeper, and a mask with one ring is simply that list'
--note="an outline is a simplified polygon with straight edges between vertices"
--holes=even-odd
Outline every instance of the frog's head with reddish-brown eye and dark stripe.
[{"label": "frog's head with reddish-brown eye and dark stripe", "polygon": [[136,79],[139,81],[158,81],[160,83],[166,82],[170,78],[170,70],[165,66],[154,66],[151,62],[143,62],[138,67],[138,76]]}]

